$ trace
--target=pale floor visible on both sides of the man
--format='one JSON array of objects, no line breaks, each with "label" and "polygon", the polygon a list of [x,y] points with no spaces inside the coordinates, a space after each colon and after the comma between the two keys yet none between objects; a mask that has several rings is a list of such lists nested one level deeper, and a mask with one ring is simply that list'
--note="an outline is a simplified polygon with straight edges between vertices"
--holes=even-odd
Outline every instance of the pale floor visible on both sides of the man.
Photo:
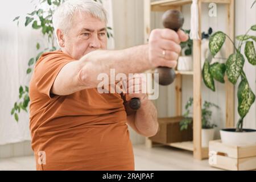
[{"label": "pale floor visible on both sides of the man", "polygon": [[[218,170],[209,167],[208,160],[193,159],[192,152],[173,147],[146,148],[144,145],[134,146],[135,170]],[[33,156],[0,159],[2,170],[35,170]]]}]

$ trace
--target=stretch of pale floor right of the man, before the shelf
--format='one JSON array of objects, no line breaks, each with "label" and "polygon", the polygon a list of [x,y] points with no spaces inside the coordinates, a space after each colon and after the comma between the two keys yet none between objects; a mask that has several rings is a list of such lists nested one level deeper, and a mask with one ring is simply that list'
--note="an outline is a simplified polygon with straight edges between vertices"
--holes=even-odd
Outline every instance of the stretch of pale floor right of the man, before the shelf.
[{"label": "stretch of pale floor right of the man, before the shelf", "polygon": [[191,151],[174,147],[161,146],[146,148],[140,145],[134,147],[134,155],[136,170],[220,170],[210,167],[208,160],[193,159]]}]

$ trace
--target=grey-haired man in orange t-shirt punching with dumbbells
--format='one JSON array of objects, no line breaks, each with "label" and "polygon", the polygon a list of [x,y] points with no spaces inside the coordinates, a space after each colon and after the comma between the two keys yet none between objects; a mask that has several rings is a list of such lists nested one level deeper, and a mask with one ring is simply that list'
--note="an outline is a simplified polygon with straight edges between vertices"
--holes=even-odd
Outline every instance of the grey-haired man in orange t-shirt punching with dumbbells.
[{"label": "grey-haired man in orange t-shirt punching with dumbbells", "polygon": [[[55,11],[53,26],[61,49],[40,57],[30,82],[30,130],[38,170],[134,170],[126,123],[146,137],[158,130],[147,94],[100,94],[97,76],[110,75],[110,69],[128,75],[175,67],[179,44],[187,35],[158,29],[148,44],[107,51],[106,23],[106,11],[92,0],[66,1]],[[134,97],[140,98],[141,108],[127,112],[124,103]]]}]

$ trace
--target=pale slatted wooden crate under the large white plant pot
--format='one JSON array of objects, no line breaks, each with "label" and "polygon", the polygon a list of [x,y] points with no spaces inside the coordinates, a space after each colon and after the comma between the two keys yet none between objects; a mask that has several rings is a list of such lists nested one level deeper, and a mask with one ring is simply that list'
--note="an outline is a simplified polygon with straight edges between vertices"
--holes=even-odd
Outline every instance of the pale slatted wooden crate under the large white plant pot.
[{"label": "pale slatted wooden crate under the large white plant pot", "polygon": [[256,145],[229,146],[221,140],[209,142],[209,164],[212,167],[232,171],[256,169]]}]

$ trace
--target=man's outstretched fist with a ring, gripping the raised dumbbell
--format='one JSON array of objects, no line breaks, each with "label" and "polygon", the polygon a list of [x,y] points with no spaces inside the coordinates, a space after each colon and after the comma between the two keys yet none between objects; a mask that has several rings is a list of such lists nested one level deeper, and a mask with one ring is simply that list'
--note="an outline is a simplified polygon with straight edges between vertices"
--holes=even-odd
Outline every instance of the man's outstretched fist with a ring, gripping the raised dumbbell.
[{"label": "man's outstretched fist with a ring, gripping the raised dumbbell", "polygon": [[152,30],[148,42],[149,61],[153,67],[174,68],[177,65],[181,47],[180,42],[188,39],[182,30],[164,28]]}]

